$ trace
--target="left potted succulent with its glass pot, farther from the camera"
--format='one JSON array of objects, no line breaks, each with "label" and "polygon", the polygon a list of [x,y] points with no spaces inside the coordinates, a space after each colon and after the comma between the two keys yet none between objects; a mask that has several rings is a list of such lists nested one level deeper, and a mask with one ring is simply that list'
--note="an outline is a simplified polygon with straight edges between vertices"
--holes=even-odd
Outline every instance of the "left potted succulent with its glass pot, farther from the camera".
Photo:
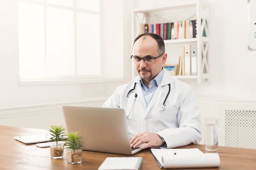
[{"label": "left potted succulent with its glass pot, farther from the camera", "polygon": [[50,145],[50,155],[52,159],[62,159],[64,152],[64,144],[61,141],[64,141],[66,138],[65,128],[62,125],[51,125],[49,130],[52,137],[52,143]]}]

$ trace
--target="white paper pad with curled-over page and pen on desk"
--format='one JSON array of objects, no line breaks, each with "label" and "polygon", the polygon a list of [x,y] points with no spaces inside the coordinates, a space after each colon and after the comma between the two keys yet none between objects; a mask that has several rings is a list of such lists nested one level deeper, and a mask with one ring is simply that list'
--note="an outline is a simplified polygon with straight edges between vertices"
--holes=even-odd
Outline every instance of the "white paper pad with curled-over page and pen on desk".
[{"label": "white paper pad with curled-over page and pen on desk", "polygon": [[151,152],[162,169],[220,166],[220,158],[217,153],[204,154],[197,148],[151,149]]}]

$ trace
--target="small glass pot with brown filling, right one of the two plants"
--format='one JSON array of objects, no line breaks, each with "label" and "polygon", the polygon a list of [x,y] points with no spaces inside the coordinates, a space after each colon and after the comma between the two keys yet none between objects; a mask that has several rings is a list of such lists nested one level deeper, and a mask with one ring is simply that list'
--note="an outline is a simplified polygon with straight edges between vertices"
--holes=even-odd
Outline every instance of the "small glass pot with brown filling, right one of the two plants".
[{"label": "small glass pot with brown filling, right one of the two plants", "polygon": [[82,149],[72,150],[67,149],[67,162],[70,164],[81,164],[82,163]]}]

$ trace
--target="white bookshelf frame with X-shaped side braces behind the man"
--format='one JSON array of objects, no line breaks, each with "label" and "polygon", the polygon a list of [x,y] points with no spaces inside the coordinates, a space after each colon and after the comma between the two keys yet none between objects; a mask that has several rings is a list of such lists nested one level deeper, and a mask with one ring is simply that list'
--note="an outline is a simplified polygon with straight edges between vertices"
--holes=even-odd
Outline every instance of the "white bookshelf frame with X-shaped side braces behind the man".
[{"label": "white bookshelf frame with X-shaped side braces behind the man", "polygon": [[[172,15],[165,14],[168,11],[175,10],[183,10],[182,15],[184,15],[184,8],[188,8],[190,10],[189,17],[180,17],[179,19],[172,19]],[[174,40],[164,40],[166,45],[166,50],[170,48],[170,45],[183,45],[196,43],[197,49],[197,57],[196,57],[196,75],[176,75],[173,76],[177,79],[195,79],[198,84],[200,84],[203,80],[209,81],[210,73],[208,66],[209,59],[209,10],[210,3],[205,0],[175,0],[172,1],[168,6],[164,7],[152,7],[152,8],[134,8],[132,12],[132,42],[139,35],[144,32],[141,32],[141,26],[145,23],[147,24],[156,24],[156,23],[172,23],[180,20],[196,20],[202,22],[196,23],[196,31],[197,37],[194,38],[183,38],[183,39],[174,39]],[[191,13],[192,11],[192,13]],[[175,13],[176,14],[176,13]],[[179,14],[179,13],[177,13]],[[157,16],[160,20],[151,20],[151,17]],[[168,19],[167,19],[168,18]],[[207,20],[207,24],[205,22]],[[199,29],[200,28],[200,29]],[[206,36],[203,36],[206,34]],[[180,49],[177,49],[180,51]],[[167,53],[168,54],[168,53]],[[169,54],[168,54],[169,55]],[[177,56],[178,57],[178,56]],[[178,64],[178,63],[167,63],[166,64]],[[134,77],[137,76],[137,72],[134,70],[134,65],[132,65],[132,75]]]}]

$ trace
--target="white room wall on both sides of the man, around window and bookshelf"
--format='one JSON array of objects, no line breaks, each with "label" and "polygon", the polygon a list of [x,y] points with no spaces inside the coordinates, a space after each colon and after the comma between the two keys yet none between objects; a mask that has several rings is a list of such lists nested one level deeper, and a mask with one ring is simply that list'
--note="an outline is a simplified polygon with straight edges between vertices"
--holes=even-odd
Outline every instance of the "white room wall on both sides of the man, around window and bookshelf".
[{"label": "white room wall on both sides of the man, around window and bookshelf", "polygon": [[[166,6],[174,0],[134,1],[136,8],[147,8]],[[211,82],[198,85],[196,80],[184,81],[192,85],[198,96],[213,96],[219,99],[255,99],[256,51],[247,50],[247,3],[231,0],[209,1],[212,3],[211,45],[209,46]],[[133,2],[123,0],[123,8],[115,8],[115,11],[119,12],[122,17],[119,16],[119,20],[111,21],[116,23],[115,27],[117,27],[114,34],[119,35],[119,30],[122,36],[119,36],[120,39],[111,39],[111,34],[108,34],[104,38],[108,43],[105,46],[106,53],[119,52],[119,55],[124,57],[124,81],[20,86],[18,83],[17,2],[18,0],[0,1],[0,125],[47,128],[54,122],[63,123],[61,105],[102,105],[118,85],[131,80],[129,56],[132,44],[131,9]],[[227,8],[230,11],[227,11]],[[109,29],[111,29],[110,26],[108,26]],[[123,44],[121,52],[115,46],[111,46],[114,43]],[[203,110],[207,114],[218,114],[218,110],[215,110],[216,112]],[[47,116],[52,116],[52,119],[45,119]]]}]

